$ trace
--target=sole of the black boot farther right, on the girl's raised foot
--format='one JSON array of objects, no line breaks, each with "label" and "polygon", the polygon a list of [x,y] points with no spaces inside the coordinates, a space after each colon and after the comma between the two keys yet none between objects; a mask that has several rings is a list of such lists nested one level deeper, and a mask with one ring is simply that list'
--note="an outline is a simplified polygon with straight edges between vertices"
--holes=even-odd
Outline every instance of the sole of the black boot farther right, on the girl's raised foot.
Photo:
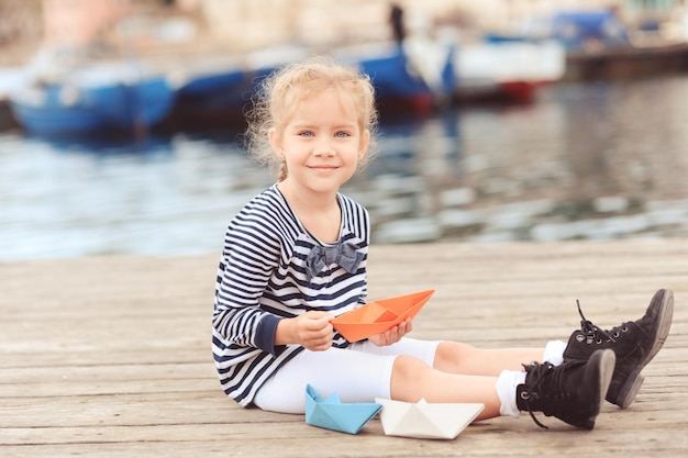
[{"label": "sole of the black boot farther right, on the girl's raised foot", "polygon": [[[629,377],[621,389],[619,389],[618,393],[613,395],[610,393],[607,396],[607,401],[619,405],[621,409],[625,409],[633,403],[637,392],[640,391],[644,377],[641,376],[641,371],[647,366],[650,361],[659,353],[662,347],[664,346],[664,342],[669,334],[669,328],[672,327],[672,319],[674,316],[674,292],[672,290],[663,290],[662,302],[659,303],[659,312],[657,314],[657,327],[655,329],[655,337],[652,345],[652,348],[647,353],[645,359],[640,362],[635,368],[631,371]],[[654,298],[653,298],[654,301]],[[652,304],[650,305],[652,306]]]}]

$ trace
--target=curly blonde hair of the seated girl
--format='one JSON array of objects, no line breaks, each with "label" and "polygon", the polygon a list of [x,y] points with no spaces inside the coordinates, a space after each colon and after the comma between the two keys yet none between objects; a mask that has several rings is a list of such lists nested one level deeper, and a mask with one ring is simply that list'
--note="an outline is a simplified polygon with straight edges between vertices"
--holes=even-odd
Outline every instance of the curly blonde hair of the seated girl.
[{"label": "curly blonde hair of the seated girl", "polygon": [[370,78],[329,57],[312,57],[287,65],[265,78],[254,96],[252,109],[246,113],[248,127],[245,144],[248,154],[258,163],[277,169],[278,181],[287,178],[287,169],[284,159],[273,152],[268,132],[275,129],[281,136],[298,103],[326,89],[348,94],[356,108],[358,127],[362,132],[370,132],[370,145],[359,166],[365,166],[373,156],[378,113]]}]

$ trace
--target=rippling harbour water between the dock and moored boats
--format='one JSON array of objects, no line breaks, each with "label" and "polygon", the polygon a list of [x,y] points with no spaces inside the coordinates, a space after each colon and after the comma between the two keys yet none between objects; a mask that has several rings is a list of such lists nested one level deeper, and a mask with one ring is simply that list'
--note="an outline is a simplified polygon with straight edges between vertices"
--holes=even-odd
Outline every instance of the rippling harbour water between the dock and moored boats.
[{"label": "rippling harbour water between the dock and moored boats", "polygon": [[[373,243],[688,235],[688,76],[544,88],[380,131],[344,189]],[[234,134],[51,143],[0,133],[0,261],[219,253],[273,182]]]}]

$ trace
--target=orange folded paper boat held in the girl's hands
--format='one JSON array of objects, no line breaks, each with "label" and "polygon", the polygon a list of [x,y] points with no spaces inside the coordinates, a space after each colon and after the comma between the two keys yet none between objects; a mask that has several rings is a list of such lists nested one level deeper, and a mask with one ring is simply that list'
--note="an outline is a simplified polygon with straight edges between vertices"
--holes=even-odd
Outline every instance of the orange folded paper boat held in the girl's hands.
[{"label": "orange folded paper boat held in the girl's hands", "polygon": [[348,342],[363,340],[395,327],[406,319],[415,316],[434,292],[435,290],[419,291],[368,302],[335,317],[332,320],[332,325]]}]

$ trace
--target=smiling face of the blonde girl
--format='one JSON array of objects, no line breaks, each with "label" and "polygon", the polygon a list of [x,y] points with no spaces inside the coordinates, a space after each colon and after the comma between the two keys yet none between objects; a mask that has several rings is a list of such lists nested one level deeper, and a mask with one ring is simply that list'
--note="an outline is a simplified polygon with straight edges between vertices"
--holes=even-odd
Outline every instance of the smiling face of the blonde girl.
[{"label": "smiling face of the blonde girl", "polygon": [[333,193],[356,171],[370,133],[360,130],[353,99],[326,89],[299,102],[284,130],[271,130],[269,139],[287,164],[285,183]]}]

